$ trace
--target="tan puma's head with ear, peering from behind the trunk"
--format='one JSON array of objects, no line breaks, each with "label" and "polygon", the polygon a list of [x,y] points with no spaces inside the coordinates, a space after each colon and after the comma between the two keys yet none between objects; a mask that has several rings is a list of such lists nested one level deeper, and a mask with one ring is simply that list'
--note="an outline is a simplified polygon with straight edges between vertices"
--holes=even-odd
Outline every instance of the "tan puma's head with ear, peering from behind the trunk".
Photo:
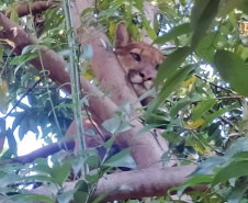
[{"label": "tan puma's head with ear, peering from behind the trunk", "polygon": [[116,29],[115,53],[138,97],[154,87],[164,55],[146,43],[133,41],[124,22]]}]

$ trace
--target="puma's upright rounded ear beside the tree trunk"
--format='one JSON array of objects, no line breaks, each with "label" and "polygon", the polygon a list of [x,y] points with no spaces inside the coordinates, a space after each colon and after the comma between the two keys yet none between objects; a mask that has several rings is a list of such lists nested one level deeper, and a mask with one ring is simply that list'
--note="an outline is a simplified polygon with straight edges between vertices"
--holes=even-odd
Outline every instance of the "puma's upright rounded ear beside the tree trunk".
[{"label": "puma's upright rounded ear beside the tree trunk", "polygon": [[116,29],[115,48],[127,46],[132,38],[124,22],[120,22]]}]

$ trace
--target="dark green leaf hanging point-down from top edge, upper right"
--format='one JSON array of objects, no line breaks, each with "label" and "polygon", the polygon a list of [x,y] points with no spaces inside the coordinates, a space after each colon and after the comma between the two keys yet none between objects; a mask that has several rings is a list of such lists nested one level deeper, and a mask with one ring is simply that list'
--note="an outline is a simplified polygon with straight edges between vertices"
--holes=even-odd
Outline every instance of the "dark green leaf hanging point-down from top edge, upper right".
[{"label": "dark green leaf hanging point-down from top edge, upper right", "polygon": [[[194,34],[191,41],[191,47],[194,49],[198,43],[201,41],[214,18],[218,12],[218,5],[221,0],[198,0],[191,15],[191,25],[194,30]],[[207,3],[207,4],[206,4]]]}]

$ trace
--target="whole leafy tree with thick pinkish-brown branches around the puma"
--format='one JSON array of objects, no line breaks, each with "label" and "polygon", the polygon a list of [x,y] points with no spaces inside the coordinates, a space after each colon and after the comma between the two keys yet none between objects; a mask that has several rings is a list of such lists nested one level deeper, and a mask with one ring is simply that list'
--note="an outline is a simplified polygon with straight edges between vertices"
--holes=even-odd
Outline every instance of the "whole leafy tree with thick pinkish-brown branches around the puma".
[{"label": "whole leafy tree with thick pinkish-brown branches around the puma", "polygon": [[[162,202],[172,192],[187,192],[195,202],[246,201],[245,0],[10,1],[1,7],[3,201],[162,196],[154,198]],[[120,21],[134,40],[153,42],[168,55],[158,69],[158,94],[147,106],[137,102],[111,48]],[[83,131],[82,115],[98,134]],[[27,132],[46,146],[20,157],[16,140]],[[90,142],[97,145],[88,149]],[[116,172],[117,167],[132,170]],[[203,183],[211,185],[207,191]]]}]

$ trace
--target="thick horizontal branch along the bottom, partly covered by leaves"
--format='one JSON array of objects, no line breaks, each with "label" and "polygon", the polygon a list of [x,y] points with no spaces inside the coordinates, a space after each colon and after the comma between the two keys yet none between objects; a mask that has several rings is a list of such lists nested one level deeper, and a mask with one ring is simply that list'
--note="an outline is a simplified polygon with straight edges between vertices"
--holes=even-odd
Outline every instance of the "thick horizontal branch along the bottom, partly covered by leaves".
[{"label": "thick horizontal branch along the bottom, partly covered by leaves", "polygon": [[[106,174],[100,179],[92,199],[101,194],[110,194],[105,201],[138,199],[145,196],[164,196],[172,187],[179,187],[189,179],[195,166],[171,167],[165,169],[133,170]],[[64,183],[66,191],[72,190],[75,182]],[[116,189],[122,189],[116,191]],[[194,190],[206,190],[201,185]],[[49,188],[37,188],[32,193],[53,194]],[[56,193],[56,191],[54,192]]]}]

